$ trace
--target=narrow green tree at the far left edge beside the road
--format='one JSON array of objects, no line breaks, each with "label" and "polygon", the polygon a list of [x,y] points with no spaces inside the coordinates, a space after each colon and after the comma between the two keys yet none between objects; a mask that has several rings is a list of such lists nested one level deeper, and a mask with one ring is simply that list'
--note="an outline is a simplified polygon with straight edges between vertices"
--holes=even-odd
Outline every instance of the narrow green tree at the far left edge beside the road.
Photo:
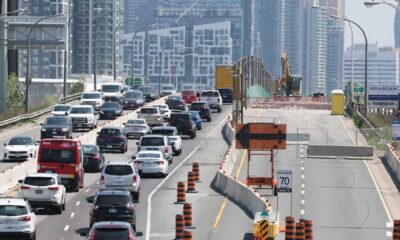
[{"label": "narrow green tree at the far left edge beside the road", "polygon": [[7,111],[17,112],[24,107],[25,97],[18,83],[17,76],[12,73],[7,81]]}]

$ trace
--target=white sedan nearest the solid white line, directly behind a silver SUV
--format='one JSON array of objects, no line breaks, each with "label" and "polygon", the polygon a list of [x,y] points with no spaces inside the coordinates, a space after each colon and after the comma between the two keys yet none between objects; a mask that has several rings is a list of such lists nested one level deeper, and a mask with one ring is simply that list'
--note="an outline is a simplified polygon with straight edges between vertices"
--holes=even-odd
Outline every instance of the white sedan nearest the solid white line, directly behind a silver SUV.
[{"label": "white sedan nearest the solid white line, directly behind a silver SUV", "polygon": [[160,151],[140,151],[133,159],[139,174],[168,175],[169,162]]}]

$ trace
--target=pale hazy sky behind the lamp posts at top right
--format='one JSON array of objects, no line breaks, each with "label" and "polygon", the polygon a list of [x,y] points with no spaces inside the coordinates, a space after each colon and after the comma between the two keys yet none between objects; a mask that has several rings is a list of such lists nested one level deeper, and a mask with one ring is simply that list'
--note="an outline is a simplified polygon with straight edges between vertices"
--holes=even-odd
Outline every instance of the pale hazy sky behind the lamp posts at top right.
[{"label": "pale hazy sky behind the lamp posts at top right", "polygon": [[[375,0],[381,1],[381,0]],[[387,2],[396,3],[394,0]],[[365,0],[345,0],[347,18],[358,23],[365,31],[368,43],[378,42],[378,46],[394,46],[393,22],[395,9],[380,4],[371,8],[364,6]],[[364,37],[356,26],[353,26],[354,43],[364,43]],[[351,45],[351,34],[348,24],[345,30],[345,48]]]}]

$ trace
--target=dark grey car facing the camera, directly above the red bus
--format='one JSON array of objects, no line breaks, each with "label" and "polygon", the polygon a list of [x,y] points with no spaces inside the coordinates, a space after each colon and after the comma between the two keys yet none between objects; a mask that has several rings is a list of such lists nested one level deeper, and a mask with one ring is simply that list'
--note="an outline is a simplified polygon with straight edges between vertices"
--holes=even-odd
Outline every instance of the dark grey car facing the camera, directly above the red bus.
[{"label": "dark grey car facing the camera, directly above the red bus", "polygon": [[40,139],[63,137],[72,139],[72,124],[68,117],[51,116],[41,123]]}]

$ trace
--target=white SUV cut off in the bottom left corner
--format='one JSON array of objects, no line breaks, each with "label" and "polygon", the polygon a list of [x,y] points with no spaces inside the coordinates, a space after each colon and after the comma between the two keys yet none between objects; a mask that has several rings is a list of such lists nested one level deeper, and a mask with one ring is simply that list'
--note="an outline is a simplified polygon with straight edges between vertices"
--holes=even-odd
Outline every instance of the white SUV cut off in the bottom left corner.
[{"label": "white SUV cut off in the bottom left corner", "polygon": [[0,199],[0,237],[36,239],[36,215],[23,199]]}]

